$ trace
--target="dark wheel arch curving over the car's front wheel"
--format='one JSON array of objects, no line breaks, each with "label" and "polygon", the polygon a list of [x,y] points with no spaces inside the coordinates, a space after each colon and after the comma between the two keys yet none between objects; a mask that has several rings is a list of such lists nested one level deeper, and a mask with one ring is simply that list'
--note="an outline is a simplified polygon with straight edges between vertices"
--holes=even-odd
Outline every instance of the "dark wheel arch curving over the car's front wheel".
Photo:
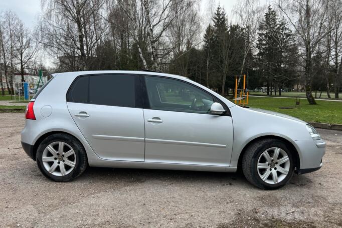
[{"label": "dark wheel arch curving over the car's front wheel", "polygon": [[278,140],[281,140],[283,141],[286,146],[289,147],[290,149],[290,152],[292,153],[293,157],[294,157],[294,166],[296,167],[296,171],[299,170],[300,168],[300,157],[299,157],[299,154],[298,154],[298,150],[296,149],[296,147],[290,142],[288,141],[287,139],[283,138],[283,137],[280,137],[280,136],[275,136],[275,135],[263,135],[263,136],[260,136],[260,137],[257,137],[257,138],[254,138],[252,139],[251,141],[249,141],[245,146],[244,148],[242,149],[240,155],[239,155],[239,159],[238,159],[238,169],[241,169],[241,166],[242,166],[242,158],[243,158],[243,155],[245,154],[246,152],[246,149],[254,142],[256,141],[259,141],[259,140],[262,140],[262,139],[278,139]]}]

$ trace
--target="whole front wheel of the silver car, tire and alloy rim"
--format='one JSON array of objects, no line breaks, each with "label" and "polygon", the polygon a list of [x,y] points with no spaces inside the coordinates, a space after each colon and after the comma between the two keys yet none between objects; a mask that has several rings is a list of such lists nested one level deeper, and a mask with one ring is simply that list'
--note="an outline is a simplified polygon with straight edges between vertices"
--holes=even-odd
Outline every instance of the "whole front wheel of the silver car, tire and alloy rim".
[{"label": "whole front wheel of the silver car, tire and alloy rim", "polygon": [[290,180],[294,165],[290,150],[278,139],[263,139],[251,144],[242,159],[247,180],[262,189],[276,189]]}]

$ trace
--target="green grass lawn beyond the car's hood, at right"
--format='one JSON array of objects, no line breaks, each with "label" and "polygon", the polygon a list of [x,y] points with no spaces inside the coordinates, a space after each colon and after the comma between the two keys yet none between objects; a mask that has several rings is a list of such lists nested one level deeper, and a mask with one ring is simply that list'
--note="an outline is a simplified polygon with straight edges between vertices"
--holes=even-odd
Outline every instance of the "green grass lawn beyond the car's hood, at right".
[{"label": "green grass lawn beyond the car's hood, at right", "polygon": [[300,99],[300,108],[280,109],[279,107],[291,107],[295,105],[295,99],[249,97],[248,106],[261,108],[274,112],[280,112],[297,117],[306,122],[318,122],[329,124],[342,124],[342,102],[316,101],[317,105],[309,105],[306,98]]}]

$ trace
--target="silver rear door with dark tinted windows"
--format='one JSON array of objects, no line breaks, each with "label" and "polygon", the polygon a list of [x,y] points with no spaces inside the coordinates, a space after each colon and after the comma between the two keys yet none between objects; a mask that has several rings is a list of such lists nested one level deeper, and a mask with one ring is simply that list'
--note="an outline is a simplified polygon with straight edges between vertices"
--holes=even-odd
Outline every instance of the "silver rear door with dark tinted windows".
[{"label": "silver rear door with dark tinted windows", "polygon": [[137,77],[79,76],[68,91],[69,112],[100,158],[144,160],[144,119]]}]

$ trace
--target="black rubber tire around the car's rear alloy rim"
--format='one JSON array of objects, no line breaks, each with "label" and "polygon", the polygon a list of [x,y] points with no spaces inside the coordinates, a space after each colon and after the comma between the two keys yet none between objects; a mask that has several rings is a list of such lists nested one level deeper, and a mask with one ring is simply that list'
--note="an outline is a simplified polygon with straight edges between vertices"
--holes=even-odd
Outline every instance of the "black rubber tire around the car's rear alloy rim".
[{"label": "black rubber tire around the car's rear alloy rim", "polygon": [[[42,156],[43,156],[43,152],[45,148],[49,144],[53,142],[58,142],[58,141],[67,143],[69,146],[71,146],[76,156],[74,169],[69,174],[64,175],[64,176],[56,176],[56,175],[51,174],[48,170],[45,169],[43,162],[42,162]],[[63,134],[63,133],[49,135],[46,139],[44,139],[41,142],[41,144],[39,145],[37,149],[36,161],[43,175],[57,182],[67,182],[67,181],[71,181],[77,178],[85,171],[85,169],[88,166],[87,155],[81,142],[75,137],[68,135],[68,134]]]}]

